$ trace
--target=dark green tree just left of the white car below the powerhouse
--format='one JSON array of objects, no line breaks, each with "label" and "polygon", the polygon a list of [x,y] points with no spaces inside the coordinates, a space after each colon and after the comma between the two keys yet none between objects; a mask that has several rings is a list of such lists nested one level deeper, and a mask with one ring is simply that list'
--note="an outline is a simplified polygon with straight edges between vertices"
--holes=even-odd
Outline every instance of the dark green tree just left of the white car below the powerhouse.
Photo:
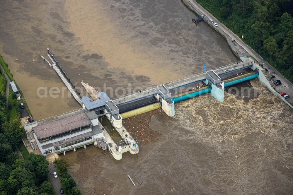
[{"label": "dark green tree just left of the white car below the powerhouse", "polygon": [[38,183],[42,183],[48,177],[48,161],[46,160],[45,156],[37,155],[34,153],[30,153],[28,155],[28,160],[32,163],[34,167],[34,172],[36,173],[36,177]]}]

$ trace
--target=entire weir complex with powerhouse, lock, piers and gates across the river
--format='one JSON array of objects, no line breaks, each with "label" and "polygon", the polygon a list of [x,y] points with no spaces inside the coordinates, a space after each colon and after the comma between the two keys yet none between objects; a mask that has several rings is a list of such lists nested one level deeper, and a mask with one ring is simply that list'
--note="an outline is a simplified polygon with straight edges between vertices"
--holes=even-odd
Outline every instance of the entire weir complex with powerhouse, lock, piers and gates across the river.
[{"label": "entire weir complex with powerhouse, lock, piers and gates across the river", "polygon": [[[65,154],[68,150],[75,151],[79,147],[86,148],[86,145],[91,143],[96,146],[101,143],[101,148],[104,150],[107,147],[117,160],[120,160],[122,153],[125,152],[137,154],[139,153],[138,144],[123,126],[123,118],[158,108],[162,108],[168,116],[174,117],[175,103],[205,93],[211,93],[214,98],[222,102],[224,101],[224,87],[257,78],[258,73],[261,72],[256,69],[252,59],[242,58],[242,61],[233,64],[163,83],[112,100],[106,93],[97,92],[87,83],[82,83],[92,97],[90,99],[86,96],[81,97],[74,83],[49,50],[48,56],[53,64],[41,57],[57,72],[82,108],[78,111],[25,125],[28,139],[30,137],[33,139],[30,142],[32,148],[39,148],[43,155],[53,152]],[[103,125],[104,117],[109,122],[108,125]],[[74,121],[71,122],[71,118]],[[81,122],[76,124],[76,121],[82,121],[84,124],[80,124]],[[60,129],[58,126],[60,123],[62,123],[61,126],[71,124],[72,128]],[[54,132],[49,133],[48,128],[54,128]]]}]

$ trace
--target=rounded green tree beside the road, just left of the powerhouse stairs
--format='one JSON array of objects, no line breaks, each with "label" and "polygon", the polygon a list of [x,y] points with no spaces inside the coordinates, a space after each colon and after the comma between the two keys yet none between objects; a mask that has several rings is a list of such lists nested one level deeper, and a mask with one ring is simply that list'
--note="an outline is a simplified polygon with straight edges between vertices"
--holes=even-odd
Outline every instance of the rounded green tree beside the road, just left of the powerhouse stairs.
[{"label": "rounded green tree beside the road, just left of the powerhouse stairs", "polygon": [[4,123],[3,132],[12,146],[18,146],[21,141],[21,135],[24,133],[24,128],[17,118],[12,118],[9,122]]}]

